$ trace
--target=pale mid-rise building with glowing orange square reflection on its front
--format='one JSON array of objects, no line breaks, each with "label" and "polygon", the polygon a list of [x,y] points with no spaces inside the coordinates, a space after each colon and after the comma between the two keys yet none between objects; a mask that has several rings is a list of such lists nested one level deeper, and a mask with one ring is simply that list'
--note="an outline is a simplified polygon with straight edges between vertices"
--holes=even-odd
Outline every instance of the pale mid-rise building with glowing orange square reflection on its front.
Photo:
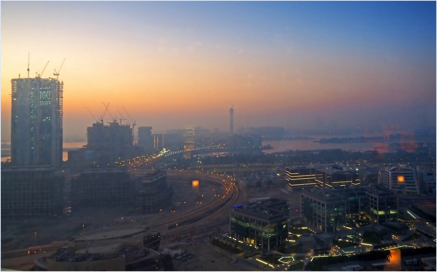
[{"label": "pale mid-rise building with glowing orange square reflection on its front", "polygon": [[418,195],[416,169],[409,166],[385,167],[385,187],[398,194]]}]

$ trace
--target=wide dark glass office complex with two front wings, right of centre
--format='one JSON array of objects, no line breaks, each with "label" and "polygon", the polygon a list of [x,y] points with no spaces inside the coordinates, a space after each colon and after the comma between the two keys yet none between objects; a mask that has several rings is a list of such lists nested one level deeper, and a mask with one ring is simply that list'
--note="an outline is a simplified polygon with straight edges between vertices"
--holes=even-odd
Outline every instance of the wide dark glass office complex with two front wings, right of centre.
[{"label": "wide dark glass office complex with two front wings, right of centre", "polygon": [[398,220],[397,196],[381,186],[354,186],[301,193],[302,219],[324,232],[361,223]]}]

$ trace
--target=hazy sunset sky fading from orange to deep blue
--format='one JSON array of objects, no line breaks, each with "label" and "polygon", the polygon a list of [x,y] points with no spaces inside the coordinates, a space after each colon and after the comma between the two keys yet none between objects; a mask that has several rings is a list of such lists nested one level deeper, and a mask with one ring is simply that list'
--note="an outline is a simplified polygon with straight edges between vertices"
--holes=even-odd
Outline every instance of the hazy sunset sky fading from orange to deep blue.
[{"label": "hazy sunset sky fading from orange to deep blue", "polygon": [[2,141],[28,52],[31,77],[66,59],[67,138],[85,137],[102,102],[153,133],[229,131],[231,106],[235,127],[436,124],[433,1],[2,1]]}]

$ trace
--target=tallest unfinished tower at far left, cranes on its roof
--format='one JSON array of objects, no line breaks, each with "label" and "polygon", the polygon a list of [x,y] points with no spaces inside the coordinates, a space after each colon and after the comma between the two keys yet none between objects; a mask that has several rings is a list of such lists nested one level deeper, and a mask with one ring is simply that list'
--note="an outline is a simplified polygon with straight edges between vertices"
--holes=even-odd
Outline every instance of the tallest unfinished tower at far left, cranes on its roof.
[{"label": "tallest unfinished tower at far left, cranes on its roof", "polygon": [[12,79],[11,163],[62,163],[62,88],[57,79]]}]

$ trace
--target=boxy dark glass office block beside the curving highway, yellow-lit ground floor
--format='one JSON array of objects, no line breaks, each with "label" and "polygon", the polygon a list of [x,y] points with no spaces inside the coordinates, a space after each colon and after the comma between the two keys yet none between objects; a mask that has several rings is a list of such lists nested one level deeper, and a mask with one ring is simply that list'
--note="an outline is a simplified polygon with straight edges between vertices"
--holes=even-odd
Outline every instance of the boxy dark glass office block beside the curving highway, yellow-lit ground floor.
[{"label": "boxy dark glass office block beside the curving highway, yellow-lit ground floor", "polygon": [[230,213],[229,236],[260,249],[285,245],[288,237],[289,206],[285,200],[252,199]]}]

